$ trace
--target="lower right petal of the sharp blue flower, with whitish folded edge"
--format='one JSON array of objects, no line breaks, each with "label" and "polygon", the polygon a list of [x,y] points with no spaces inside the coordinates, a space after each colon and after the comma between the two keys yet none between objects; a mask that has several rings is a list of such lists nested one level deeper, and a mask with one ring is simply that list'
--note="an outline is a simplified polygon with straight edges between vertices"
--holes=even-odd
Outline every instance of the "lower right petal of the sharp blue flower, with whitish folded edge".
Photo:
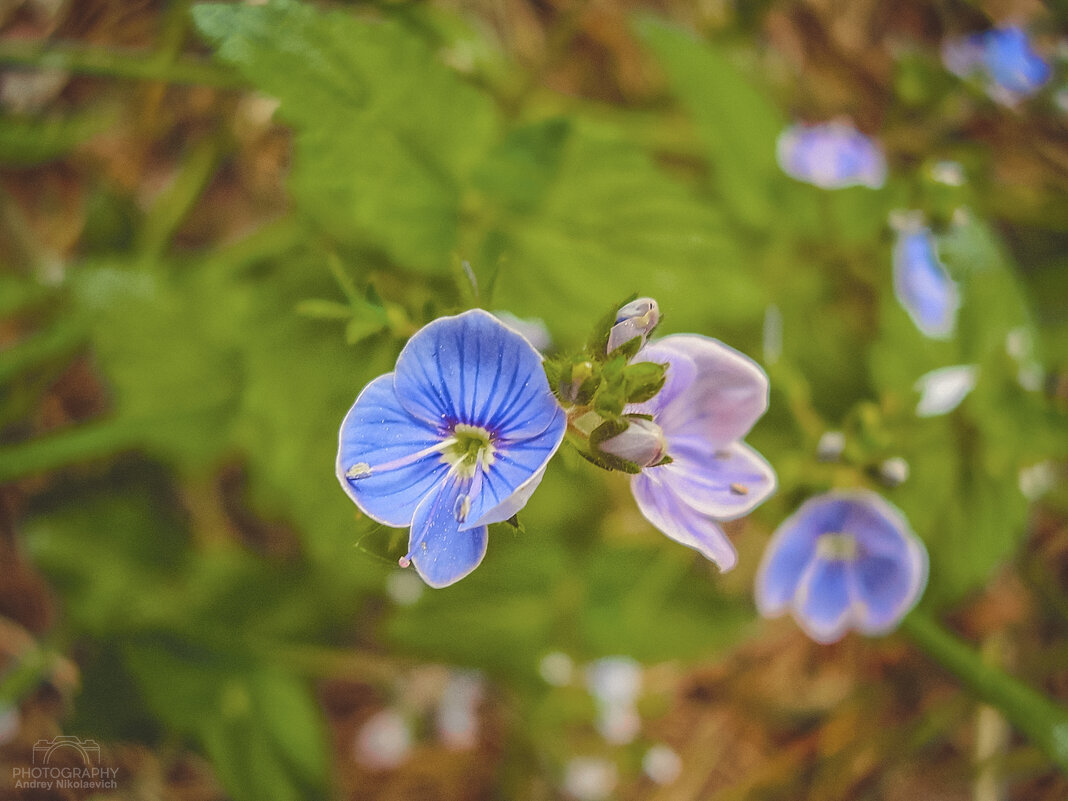
[{"label": "lower right petal of the sharp blue flower, with whitish folded edge", "polygon": [[557,406],[552,422],[536,437],[501,442],[493,464],[476,480],[474,486],[481,487],[472,494],[468,522],[462,528],[499,523],[525,506],[541,483],[546,465],[560,447],[566,427],[567,417]]}]

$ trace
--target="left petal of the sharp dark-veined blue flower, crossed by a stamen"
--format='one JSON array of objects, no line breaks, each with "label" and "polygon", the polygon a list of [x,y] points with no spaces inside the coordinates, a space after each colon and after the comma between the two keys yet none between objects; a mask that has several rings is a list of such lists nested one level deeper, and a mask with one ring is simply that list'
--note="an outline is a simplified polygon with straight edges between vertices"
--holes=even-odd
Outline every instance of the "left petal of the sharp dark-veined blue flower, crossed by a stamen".
[{"label": "left petal of the sharp dark-veined blue flower, crossed by a stamen", "polygon": [[359,478],[345,472],[355,465],[374,468],[418,454],[441,441],[426,423],[414,420],[397,399],[393,374],[379,376],[356,398],[341,425],[337,481],[373,520],[384,525],[411,523],[415,507],[445,474],[441,454],[429,453],[400,468]]}]

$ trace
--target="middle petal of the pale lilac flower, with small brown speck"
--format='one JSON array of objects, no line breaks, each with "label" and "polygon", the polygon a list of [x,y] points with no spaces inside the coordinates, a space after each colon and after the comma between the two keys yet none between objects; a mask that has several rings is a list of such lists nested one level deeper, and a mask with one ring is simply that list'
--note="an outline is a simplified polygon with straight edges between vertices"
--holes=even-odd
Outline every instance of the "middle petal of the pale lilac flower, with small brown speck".
[{"label": "middle petal of the pale lilac flower, with small brown speck", "polygon": [[717,520],[748,515],[775,490],[775,471],[749,445],[732,442],[710,450],[700,440],[670,439],[673,461],[646,468],[687,505]]}]

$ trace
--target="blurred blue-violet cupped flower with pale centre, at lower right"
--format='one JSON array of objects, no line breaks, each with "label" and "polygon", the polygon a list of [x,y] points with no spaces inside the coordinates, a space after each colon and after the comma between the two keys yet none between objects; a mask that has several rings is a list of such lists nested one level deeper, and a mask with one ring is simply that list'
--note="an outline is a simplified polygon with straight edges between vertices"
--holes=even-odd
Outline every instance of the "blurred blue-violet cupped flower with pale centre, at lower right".
[{"label": "blurred blue-violet cupped flower with pale centre, at lower right", "polygon": [[785,612],[820,643],[892,630],[927,585],[927,550],[895,507],[867,490],[810,499],[771,537],[756,576],[765,617]]}]

